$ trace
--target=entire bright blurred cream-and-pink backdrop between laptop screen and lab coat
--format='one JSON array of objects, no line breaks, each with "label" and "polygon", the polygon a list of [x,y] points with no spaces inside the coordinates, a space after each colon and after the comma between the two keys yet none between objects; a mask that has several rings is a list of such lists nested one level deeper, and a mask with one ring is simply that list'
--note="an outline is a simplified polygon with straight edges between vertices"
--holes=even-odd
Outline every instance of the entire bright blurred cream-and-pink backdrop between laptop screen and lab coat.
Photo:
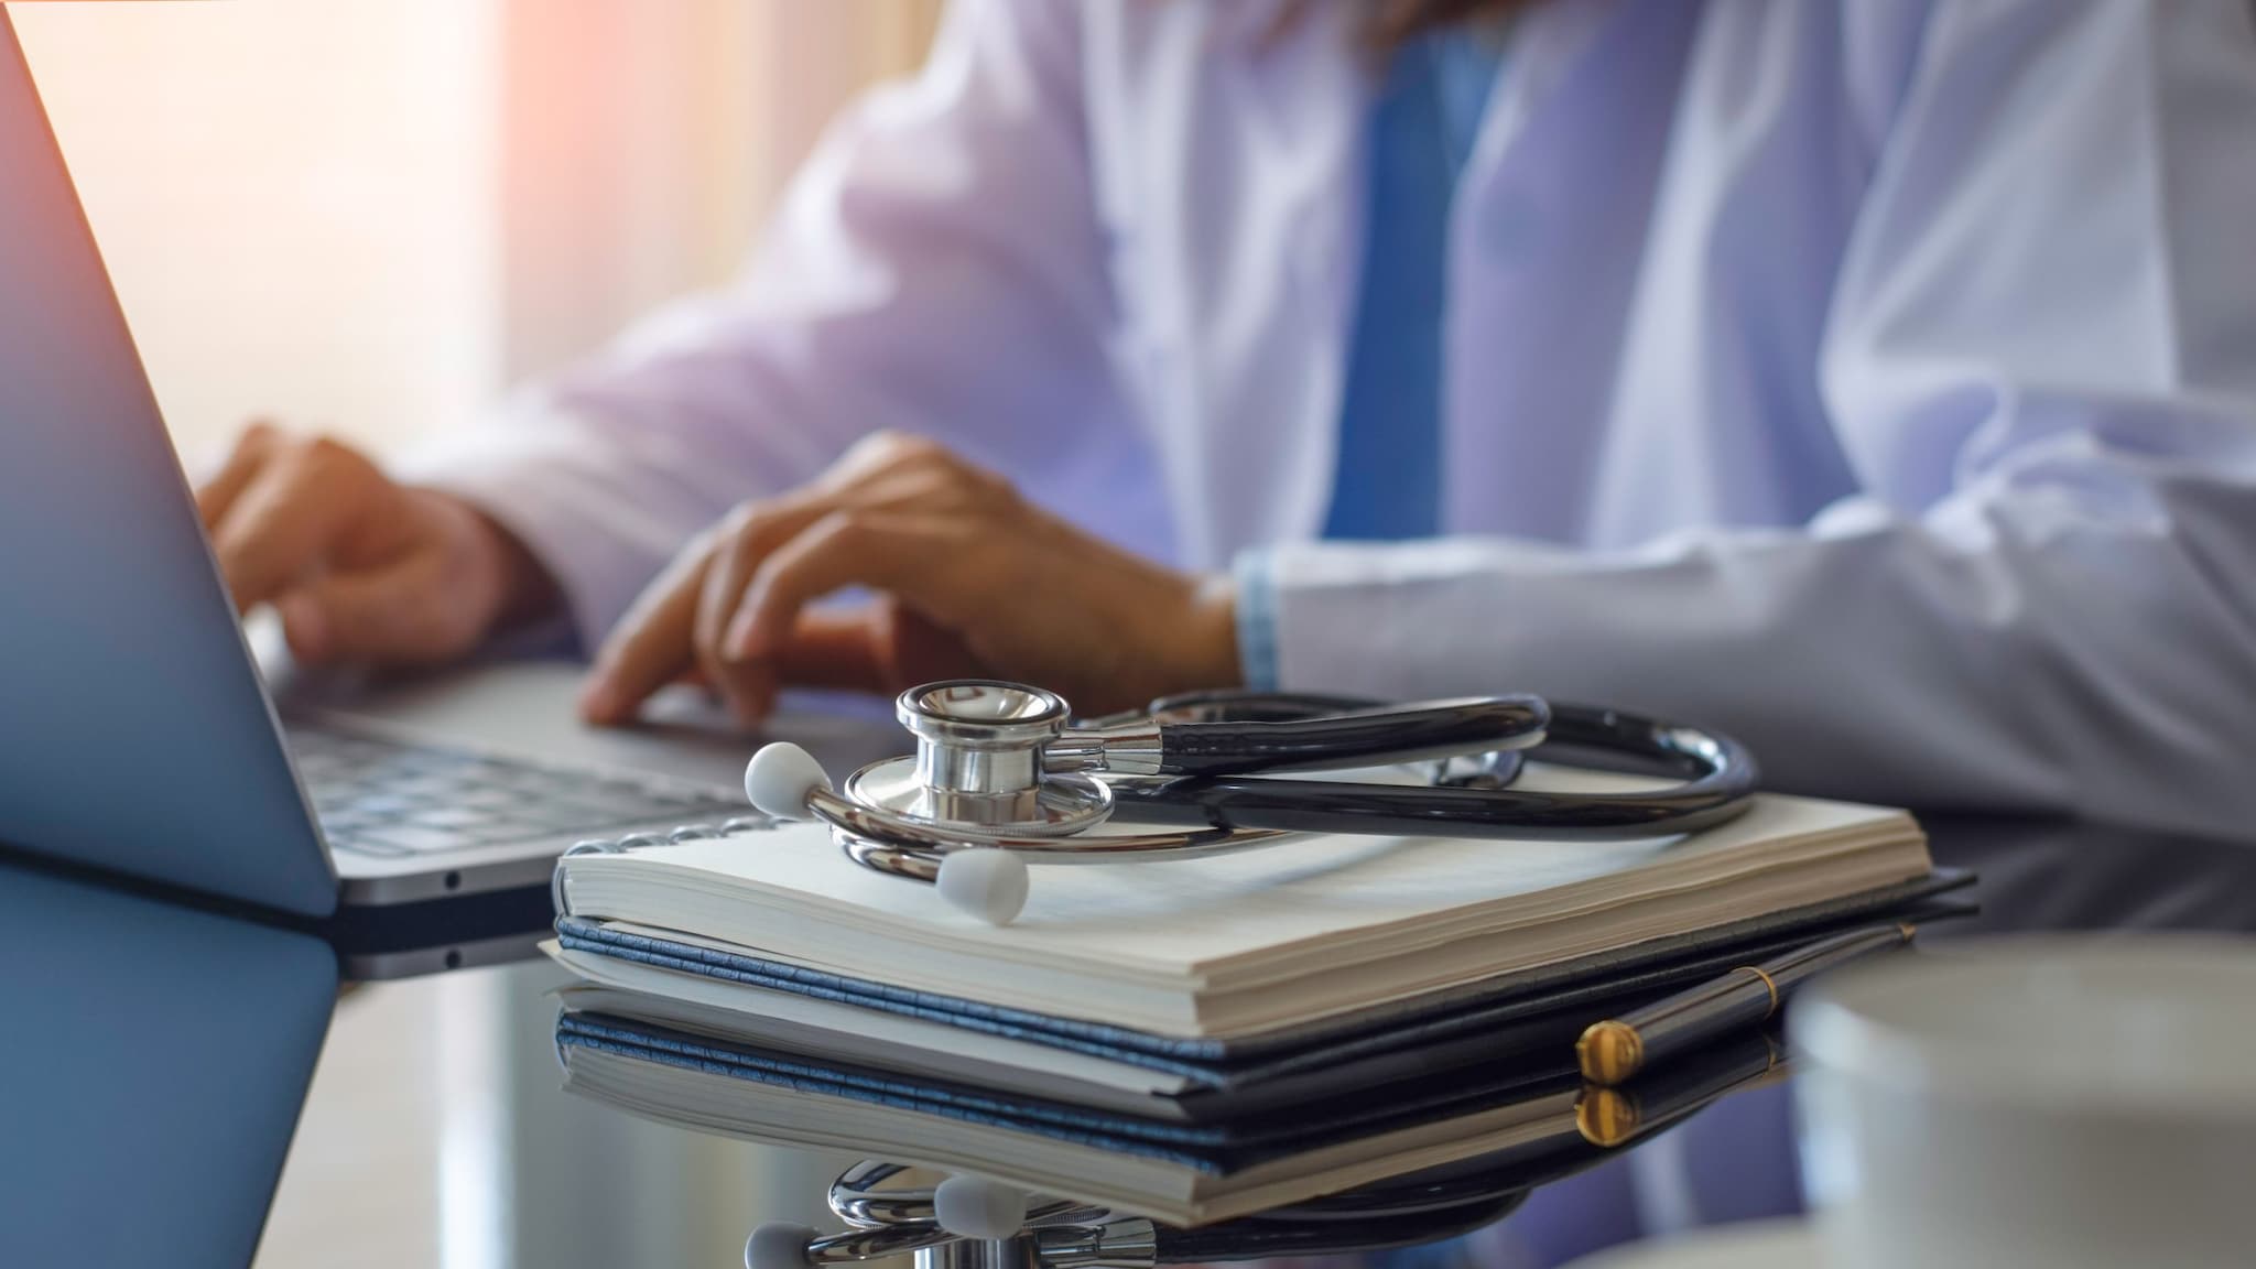
[{"label": "entire bright blurred cream-and-pink backdrop between laptop screen and lab coat", "polygon": [[183,454],[374,447],[724,280],[941,0],[14,9]]}]

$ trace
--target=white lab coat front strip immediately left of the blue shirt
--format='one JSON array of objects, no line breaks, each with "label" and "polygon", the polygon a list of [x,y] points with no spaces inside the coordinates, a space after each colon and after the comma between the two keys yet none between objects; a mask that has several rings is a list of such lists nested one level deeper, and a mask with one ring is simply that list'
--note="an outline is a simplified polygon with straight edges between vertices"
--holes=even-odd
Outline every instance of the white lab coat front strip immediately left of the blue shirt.
[{"label": "white lab coat front strip immediately left of the blue shirt", "polygon": [[[1171,483],[1193,528],[1187,553],[1220,565],[1313,535],[1331,497],[1369,65],[1354,5],[1306,5],[1284,23],[1284,0],[1198,9],[1211,14],[1209,88],[1230,108],[1184,138],[1182,190],[1198,210],[1180,219],[1171,273],[1196,303],[1171,307],[1189,400],[1164,427],[1184,458]],[[1216,187],[1236,196],[1207,201]]]}]

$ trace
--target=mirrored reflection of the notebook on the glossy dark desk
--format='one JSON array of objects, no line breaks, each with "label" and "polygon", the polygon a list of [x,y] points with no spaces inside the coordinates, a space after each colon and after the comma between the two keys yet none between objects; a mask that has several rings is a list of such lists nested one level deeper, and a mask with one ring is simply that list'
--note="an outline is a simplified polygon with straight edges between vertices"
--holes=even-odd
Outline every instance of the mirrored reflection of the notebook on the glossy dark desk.
[{"label": "mirrored reflection of the notebook on the glossy dark desk", "polygon": [[[1755,1061],[1742,1045],[1692,1054],[1669,1088],[1611,1095],[1633,1097],[1647,1122],[1676,1122],[1773,1079],[1769,1045],[1757,1048]],[[1480,1161],[1505,1188],[1536,1185],[1606,1156],[1577,1122],[1581,1084],[1559,1068],[1475,1073],[1385,1102],[1308,1102],[1245,1124],[1198,1127],[900,1079],[578,1009],[557,1018],[557,1057],[566,1091],[659,1122],[977,1172],[1171,1224],[1209,1224],[1466,1161]]]}]

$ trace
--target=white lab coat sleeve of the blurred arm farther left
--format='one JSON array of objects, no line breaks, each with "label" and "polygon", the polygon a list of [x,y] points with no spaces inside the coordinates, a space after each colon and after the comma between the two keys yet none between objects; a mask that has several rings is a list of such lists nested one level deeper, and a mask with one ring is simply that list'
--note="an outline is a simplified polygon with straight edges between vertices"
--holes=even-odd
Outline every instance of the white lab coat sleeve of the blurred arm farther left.
[{"label": "white lab coat sleeve of the blurred arm farther left", "polygon": [[1085,167],[1076,7],[957,2],[914,81],[832,124],[729,289],[402,474],[521,535],[584,646],[699,528],[878,429],[936,436],[1164,551]]}]

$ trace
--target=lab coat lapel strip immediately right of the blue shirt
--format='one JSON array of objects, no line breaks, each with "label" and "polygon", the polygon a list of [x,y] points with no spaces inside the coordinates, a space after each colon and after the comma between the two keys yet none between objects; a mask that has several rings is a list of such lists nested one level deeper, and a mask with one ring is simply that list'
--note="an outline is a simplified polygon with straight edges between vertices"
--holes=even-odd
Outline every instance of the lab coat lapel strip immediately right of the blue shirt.
[{"label": "lab coat lapel strip immediately right of the blue shirt", "polygon": [[1512,34],[1451,215],[1444,528],[1575,540],[1681,29],[1699,7],[1561,0]]}]

